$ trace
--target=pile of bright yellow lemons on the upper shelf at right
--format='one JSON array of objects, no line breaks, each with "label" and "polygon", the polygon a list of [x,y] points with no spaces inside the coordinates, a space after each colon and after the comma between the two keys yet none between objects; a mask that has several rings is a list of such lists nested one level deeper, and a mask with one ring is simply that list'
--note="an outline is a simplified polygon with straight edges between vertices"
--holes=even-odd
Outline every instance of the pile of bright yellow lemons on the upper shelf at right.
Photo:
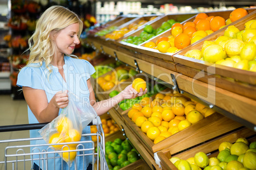
[{"label": "pile of bright yellow lemons on the upper shelf at right", "polygon": [[204,41],[201,50],[191,49],[185,56],[256,72],[256,20],[246,22],[243,30],[227,27],[224,36]]}]

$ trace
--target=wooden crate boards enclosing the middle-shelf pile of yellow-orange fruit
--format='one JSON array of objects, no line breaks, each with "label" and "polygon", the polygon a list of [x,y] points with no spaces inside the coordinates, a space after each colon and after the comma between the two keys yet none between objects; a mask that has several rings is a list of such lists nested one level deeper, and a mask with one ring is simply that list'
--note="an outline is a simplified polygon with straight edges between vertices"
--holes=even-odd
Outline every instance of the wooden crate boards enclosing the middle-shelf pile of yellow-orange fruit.
[{"label": "wooden crate boards enclosing the middle-shelf pile of yellow-orange fruit", "polygon": [[166,138],[157,144],[154,144],[153,141],[150,140],[150,138],[148,138],[148,136],[146,136],[146,134],[143,133],[141,129],[134,124],[134,122],[131,121],[127,113],[123,114],[123,117],[125,124],[131,128],[134,133],[136,133],[138,139],[152,155],[164,148],[173,148],[172,154],[175,154],[185,148],[193,147],[203,141],[210,140],[242,126],[238,122],[232,121],[231,119],[215,112],[215,114],[205,117],[196,124],[192,124],[192,126],[169,136],[169,138]]}]

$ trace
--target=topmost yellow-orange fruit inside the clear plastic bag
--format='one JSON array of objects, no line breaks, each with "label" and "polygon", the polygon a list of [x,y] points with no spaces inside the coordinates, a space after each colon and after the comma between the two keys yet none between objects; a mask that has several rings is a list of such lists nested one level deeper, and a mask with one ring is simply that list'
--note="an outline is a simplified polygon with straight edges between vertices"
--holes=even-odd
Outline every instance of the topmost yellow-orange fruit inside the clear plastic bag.
[{"label": "topmost yellow-orange fruit inside the clear plastic bag", "polygon": [[68,119],[68,117],[66,116],[59,117],[59,119],[57,119],[57,122],[55,124],[55,128],[59,133],[67,133],[69,129],[73,128],[73,124],[72,124],[72,121]]}]

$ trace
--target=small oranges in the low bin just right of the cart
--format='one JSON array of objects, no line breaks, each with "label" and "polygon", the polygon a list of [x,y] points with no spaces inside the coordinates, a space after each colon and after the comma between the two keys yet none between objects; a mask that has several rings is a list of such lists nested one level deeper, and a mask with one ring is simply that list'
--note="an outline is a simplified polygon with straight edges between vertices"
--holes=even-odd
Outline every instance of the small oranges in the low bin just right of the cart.
[{"label": "small oranges in the low bin just right of the cart", "polygon": [[[103,124],[103,131],[105,133],[105,136],[119,131],[119,128],[117,124],[115,124],[115,121],[113,121],[113,119],[101,119],[101,123]],[[90,132],[97,133],[97,127],[90,126]],[[92,136],[92,141],[97,141],[97,136]]]}]

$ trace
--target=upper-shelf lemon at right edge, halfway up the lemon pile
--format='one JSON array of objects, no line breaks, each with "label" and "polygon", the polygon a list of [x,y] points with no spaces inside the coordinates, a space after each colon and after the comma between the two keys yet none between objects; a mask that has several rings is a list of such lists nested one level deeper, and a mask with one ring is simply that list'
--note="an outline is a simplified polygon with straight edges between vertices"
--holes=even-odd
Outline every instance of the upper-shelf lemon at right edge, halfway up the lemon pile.
[{"label": "upper-shelf lemon at right edge, halfway up the lemon pile", "polygon": [[256,45],[254,42],[248,42],[243,46],[241,53],[240,53],[242,60],[251,61],[256,56]]}]

